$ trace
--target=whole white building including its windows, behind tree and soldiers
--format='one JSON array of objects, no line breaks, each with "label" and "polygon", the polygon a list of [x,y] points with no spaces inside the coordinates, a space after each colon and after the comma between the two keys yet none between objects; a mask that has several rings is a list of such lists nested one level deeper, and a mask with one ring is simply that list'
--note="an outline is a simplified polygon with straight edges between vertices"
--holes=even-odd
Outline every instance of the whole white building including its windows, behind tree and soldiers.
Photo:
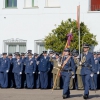
[{"label": "whole white building including its windows, behind tree and soldiers", "polygon": [[[93,3],[98,2],[97,4]],[[43,39],[62,20],[76,19],[81,6],[81,21],[97,35],[100,49],[100,0],[0,0],[0,53],[44,50]],[[92,2],[92,3],[91,3]]]}]

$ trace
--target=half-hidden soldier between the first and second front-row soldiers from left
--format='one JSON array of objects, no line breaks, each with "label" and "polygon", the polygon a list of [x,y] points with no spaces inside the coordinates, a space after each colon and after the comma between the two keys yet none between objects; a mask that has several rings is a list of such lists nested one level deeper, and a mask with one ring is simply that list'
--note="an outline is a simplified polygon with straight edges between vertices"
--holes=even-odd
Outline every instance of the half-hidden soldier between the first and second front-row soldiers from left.
[{"label": "half-hidden soldier between the first and second front-row soldiers from left", "polygon": [[10,61],[10,69],[9,69],[9,73],[8,73],[8,86],[10,88],[13,88],[14,87],[14,74],[12,73],[12,69],[13,69],[13,58],[12,58],[12,54],[9,53],[8,54],[8,58],[9,58],[9,61]]}]

